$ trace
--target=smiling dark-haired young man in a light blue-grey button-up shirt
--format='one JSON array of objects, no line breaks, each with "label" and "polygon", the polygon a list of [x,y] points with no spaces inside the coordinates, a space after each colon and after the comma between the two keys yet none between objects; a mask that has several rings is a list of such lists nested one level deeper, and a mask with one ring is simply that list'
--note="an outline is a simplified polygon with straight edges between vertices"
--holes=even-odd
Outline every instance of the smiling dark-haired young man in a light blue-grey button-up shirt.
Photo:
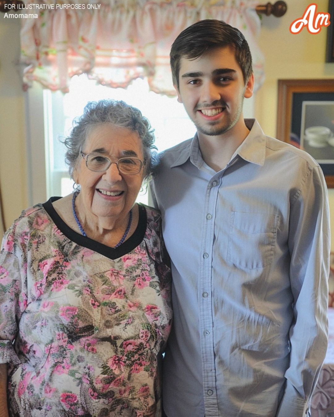
[{"label": "smiling dark-haired young man in a light blue-grey button-up shirt", "polygon": [[173,82],[197,133],[153,181],[173,271],[163,369],[168,417],[302,417],[327,349],[329,210],[319,165],[243,119],[243,35],[184,30]]}]

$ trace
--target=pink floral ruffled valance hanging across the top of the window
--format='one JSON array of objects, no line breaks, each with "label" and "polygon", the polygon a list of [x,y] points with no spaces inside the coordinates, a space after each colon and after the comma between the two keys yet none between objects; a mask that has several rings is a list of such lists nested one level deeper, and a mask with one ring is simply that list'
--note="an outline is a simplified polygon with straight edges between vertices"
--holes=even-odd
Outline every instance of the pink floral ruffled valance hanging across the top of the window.
[{"label": "pink floral ruffled valance hanging across the top of the window", "polygon": [[[103,2],[102,2],[103,1]],[[21,63],[24,82],[68,91],[73,75],[111,87],[148,77],[151,90],[174,95],[169,52],[176,36],[202,19],[220,19],[244,33],[253,57],[255,87],[263,80],[264,58],[257,46],[258,0],[74,0],[25,3]],[[31,7],[31,8],[29,8]]]}]

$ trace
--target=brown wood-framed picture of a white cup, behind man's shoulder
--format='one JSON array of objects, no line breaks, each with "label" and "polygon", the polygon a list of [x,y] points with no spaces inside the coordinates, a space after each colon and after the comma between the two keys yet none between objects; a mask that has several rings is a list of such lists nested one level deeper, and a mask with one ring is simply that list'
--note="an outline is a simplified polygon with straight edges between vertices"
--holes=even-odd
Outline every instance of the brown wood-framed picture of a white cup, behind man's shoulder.
[{"label": "brown wood-framed picture of a white cup, behind man's shoulder", "polygon": [[277,139],[313,156],[334,188],[334,80],[278,80]]}]

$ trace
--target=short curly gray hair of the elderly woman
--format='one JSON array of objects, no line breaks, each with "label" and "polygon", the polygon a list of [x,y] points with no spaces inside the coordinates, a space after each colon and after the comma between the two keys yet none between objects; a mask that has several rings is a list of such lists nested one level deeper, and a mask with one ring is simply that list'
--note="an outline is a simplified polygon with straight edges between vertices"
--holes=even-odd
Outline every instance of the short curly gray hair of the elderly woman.
[{"label": "short curly gray hair of the elderly woman", "polygon": [[143,146],[144,174],[143,180],[147,181],[153,168],[157,165],[157,149],[154,143],[154,134],[151,124],[141,114],[138,108],[130,106],[121,100],[99,100],[90,101],[84,108],[84,114],[74,119],[73,129],[70,135],[64,140],[67,147],[65,162],[69,167],[69,175],[73,177],[74,168],[80,158],[88,134],[93,126],[112,123],[115,126],[137,132]]}]

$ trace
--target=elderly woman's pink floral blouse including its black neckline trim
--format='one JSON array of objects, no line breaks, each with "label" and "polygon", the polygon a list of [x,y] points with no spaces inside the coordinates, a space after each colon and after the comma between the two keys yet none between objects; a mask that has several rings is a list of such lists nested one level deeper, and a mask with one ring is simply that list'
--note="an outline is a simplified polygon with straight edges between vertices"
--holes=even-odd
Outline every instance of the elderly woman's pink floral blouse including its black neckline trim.
[{"label": "elderly woman's pink floral blouse including its black neckline trim", "polygon": [[[0,253],[0,363],[12,417],[161,415],[171,270],[158,211],[116,249],[70,229],[51,198]],[[14,342],[13,342],[14,341]]]}]

